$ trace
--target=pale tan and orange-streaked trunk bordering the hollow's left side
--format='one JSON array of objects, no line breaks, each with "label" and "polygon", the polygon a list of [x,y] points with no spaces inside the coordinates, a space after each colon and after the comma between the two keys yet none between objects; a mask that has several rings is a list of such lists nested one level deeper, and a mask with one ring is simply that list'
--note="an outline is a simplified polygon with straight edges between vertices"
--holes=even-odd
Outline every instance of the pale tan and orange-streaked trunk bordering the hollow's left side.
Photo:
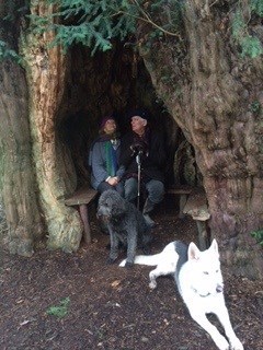
[{"label": "pale tan and orange-streaked trunk bordering the hollow's left side", "polygon": [[[45,2],[32,8],[34,14],[53,12]],[[82,223],[79,213],[64,203],[65,194],[76,187],[76,174],[68,150],[57,137],[56,120],[64,93],[67,56],[60,47],[47,49],[53,33],[28,34],[23,54],[30,92],[30,122],[33,162],[39,191],[39,201],[47,225],[47,246],[65,252],[78,249]]]}]

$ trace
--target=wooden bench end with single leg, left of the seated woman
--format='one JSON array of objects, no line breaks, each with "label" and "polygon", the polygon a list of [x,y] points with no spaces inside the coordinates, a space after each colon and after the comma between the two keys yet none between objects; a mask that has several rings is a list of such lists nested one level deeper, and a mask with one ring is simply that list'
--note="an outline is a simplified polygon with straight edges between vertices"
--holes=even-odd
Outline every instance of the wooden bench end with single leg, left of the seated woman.
[{"label": "wooden bench end with single leg, left of the seated woman", "polygon": [[77,189],[71,196],[65,199],[65,205],[70,207],[78,207],[80,218],[83,222],[83,237],[85,243],[91,243],[91,229],[89,222],[89,205],[96,198],[98,191],[89,188],[81,187]]}]

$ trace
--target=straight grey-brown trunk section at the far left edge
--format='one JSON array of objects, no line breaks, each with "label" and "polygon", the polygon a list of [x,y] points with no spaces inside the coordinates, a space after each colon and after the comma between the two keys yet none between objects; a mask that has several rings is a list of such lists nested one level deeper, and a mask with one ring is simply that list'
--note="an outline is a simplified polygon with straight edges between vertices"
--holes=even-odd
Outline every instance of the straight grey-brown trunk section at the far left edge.
[{"label": "straight grey-brown trunk section at the far left edge", "polygon": [[[0,7],[0,18],[8,15],[5,5]],[[10,48],[15,46],[13,38],[18,38],[15,25],[1,27],[0,39]],[[25,73],[13,61],[0,62],[0,92],[1,195],[9,248],[12,254],[31,256],[44,225],[32,163]]]}]

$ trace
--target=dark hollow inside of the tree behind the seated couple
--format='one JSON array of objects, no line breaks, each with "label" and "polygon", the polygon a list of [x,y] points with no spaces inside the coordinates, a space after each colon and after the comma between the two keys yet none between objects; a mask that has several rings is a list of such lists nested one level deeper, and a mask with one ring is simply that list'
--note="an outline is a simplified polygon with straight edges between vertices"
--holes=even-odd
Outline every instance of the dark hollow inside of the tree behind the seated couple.
[{"label": "dark hollow inside of the tree behind the seated couple", "polygon": [[70,149],[78,186],[89,183],[88,154],[98,136],[100,120],[113,114],[121,135],[124,135],[129,128],[125,115],[135,107],[146,108],[151,116],[151,127],[163,133],[168,154],[167,186],[197,185],[194,151],[156,95],[144,61],[134,51],[133,44],[116,43],[111,51],[98,52],[94,57],[88,48],[75,46],[68,55],[66,89],[57,128]]}]

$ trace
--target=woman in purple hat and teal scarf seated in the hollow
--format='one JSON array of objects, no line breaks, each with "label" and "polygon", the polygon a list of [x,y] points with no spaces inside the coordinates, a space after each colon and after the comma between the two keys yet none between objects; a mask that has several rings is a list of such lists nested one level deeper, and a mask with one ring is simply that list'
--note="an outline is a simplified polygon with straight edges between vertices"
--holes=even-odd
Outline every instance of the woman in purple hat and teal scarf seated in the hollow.
[{"label": "woman in purple hat and teal scarf seated in the hollow", "polygon": [[122,176],[124,167],[119,166],[121,140],[117,135],[117,125],[113,116],[102,119],[100,136],[94,141],[90,151],[89,164],[91,165],[91,186],[103,192],[115,189],[124,195]]}]

